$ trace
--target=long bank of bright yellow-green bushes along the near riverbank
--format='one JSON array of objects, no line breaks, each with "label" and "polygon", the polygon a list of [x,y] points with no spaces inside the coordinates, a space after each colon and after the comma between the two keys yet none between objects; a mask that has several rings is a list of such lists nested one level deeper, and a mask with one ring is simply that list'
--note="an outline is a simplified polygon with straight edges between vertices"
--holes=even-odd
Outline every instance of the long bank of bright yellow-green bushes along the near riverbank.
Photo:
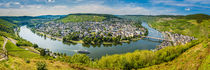
[{"label": "long bank of bright yellow-green bushes along the near riverbank", "polygon": [[97,61],[96,66],[111,69],[138,69],[162,62],[171,61],[182,54],[188,48],[199,44],[200,41],[192,41],[186,45],[166,47],[156,52],[137,50],[133,53],[103,56]]}]

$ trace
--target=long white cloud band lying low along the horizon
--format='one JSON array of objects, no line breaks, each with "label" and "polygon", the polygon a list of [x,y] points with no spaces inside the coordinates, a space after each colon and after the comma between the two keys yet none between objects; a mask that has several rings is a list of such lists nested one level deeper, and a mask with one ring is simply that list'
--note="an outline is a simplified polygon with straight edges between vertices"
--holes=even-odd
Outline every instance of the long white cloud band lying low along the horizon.
[{"label": "long white cloud band lying low along the horizon", "polygon": [[70,13],[102,13],[115,15],[159,15],[174,14],[175,10],[162,8],[144,8],[132,5],[123,7],[110,7],[99,4],[87,4],[78,6],[44,6],[44,5],[27,5],[22,8],[0,9],[0,16],[38,16],[38,15],[65,15]]}]

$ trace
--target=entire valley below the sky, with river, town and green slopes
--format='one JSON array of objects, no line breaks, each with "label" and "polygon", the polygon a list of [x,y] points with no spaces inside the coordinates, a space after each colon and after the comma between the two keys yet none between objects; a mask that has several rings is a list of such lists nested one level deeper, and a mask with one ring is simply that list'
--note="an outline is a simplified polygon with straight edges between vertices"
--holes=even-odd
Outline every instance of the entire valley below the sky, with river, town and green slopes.
[{"label": "entire valley below the sky, with river, town and green slopes", "polygon": [[[80,20],[77,21],[66,21],[65,17],[60,17],[57,20],[38,24],[27,21],[28,24],[24,23],[24,25],[22,22],[13,24],[14,22],[7,21],[11,18],[19,19],[18,17],[1,19],[3,23],[1,23],[0,45],[4,46],[3,43],[6,42],[5,48],[8,53],[1,52],[1,55],[7,55],[8,60],[1,61],[0,67],[4,70],[27,68],[34,70],[39,66],[50,70],[156,70],[157,68],[166,69],[166,67],[189,69],[193,66],[196,67],[193,70],[208,69],[209,20],[203,19],[198,23],[197,19],[185,18],[188,16],[139,16],[142,20],[138,22],[133,19],[139,17],[131,17],[115,20],[106,20],[101,17],[100,20],[94,19],[88,22],[89,19],[83,19],[86,21],[83,22],[80,15],[77,17]],[[167,39],[169,42],[143,38],[143,36]],[[4,40],[5,38],[8,40]],[[121,42],[123,40],[128,40],[128,42]],[[104,42],[111,42],[111,45],[107,46]],[[80,50],[86,50],[89,54],[80,54],[77,52]],[[189,61],[185,60],[184,56],[192,57],[190,61],[197,59],[199,62],[192,62],[189,65]]]}]

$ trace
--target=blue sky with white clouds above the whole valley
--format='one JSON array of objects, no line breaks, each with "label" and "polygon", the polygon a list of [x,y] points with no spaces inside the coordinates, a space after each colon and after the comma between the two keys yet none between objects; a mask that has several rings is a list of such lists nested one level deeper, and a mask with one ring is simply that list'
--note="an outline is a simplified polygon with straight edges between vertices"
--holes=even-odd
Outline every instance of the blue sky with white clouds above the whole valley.
[{"label": "blue sky with white clouds above the whole valley", "polygon": [[210,0],[0,0],[0,16],[102,13],[115,15],[210,15]]}]

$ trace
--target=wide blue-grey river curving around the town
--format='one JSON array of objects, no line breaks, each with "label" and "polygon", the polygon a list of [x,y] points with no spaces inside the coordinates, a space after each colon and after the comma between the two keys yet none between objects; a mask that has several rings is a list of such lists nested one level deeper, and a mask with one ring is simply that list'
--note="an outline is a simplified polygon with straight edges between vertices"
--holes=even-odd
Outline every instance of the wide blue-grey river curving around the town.
[{"label": "wide blue-grey river curving around the town", "polygon": [[[150,37],[159,37],[161,38],[161,33],[157,30],[148,26],[146,22],[142,23],[142,26],[148,29],[148,36]],[[82,44],[75,44],[75,45],[67,45],[64,44],[62,41],[58,40],[51,40],[50,38],[41,37],[35,33],[33,33],[29,28],[26,26],[20,27],[19,36],[23,39],[26,39],[32,43],[37,44],[41,48],[49,49],[52,52],[59,52],[59,53],[66,53],[67,55],[73,55],[77,53],[77,50],[87,50],[90,52],[88,56],[92,58],[100,58],[104,55],[111,55],[111,54],[122,54],[127,52],[133,52],[135,50],[151,50],[155,49],[157,45],[160,45],[160,42],[157,42],[152,39],[141,39],[135,42],[122,43],[121,45],[112,45],[110,47],[106,47],[101,45],[100,47],[84,47]]]}]

